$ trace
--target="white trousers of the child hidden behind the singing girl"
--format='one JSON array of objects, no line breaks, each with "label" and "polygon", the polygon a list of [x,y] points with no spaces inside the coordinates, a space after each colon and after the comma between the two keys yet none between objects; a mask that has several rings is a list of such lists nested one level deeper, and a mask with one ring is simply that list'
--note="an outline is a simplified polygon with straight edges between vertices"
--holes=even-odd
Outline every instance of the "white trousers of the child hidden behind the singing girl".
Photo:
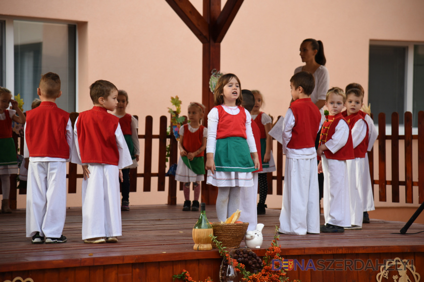
[{"label": "white trousers of the child hidden behind the singing girl", "polygon": [[253,186],[244,187],[240,191],[240,219],[239,221],[248,222],[247,231],[256,230],[257,225],[257,177],[258,173],[253,172]]}]

